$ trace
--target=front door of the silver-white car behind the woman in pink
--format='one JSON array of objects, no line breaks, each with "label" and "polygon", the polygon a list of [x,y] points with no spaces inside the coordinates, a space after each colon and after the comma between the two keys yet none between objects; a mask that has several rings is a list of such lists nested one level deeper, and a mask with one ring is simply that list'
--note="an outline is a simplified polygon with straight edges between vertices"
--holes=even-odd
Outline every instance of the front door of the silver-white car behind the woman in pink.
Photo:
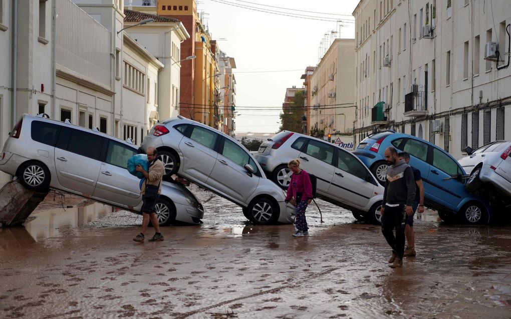
[{"label": "front door of the silver-white car behind the woman in pink", "polygon": [[373,197],[375,185],[367,182],[370,176],[367,168],[355,155],[345,150],[337,149],[335,168],[329,194],[336,200],[349,203],[357,208],[367,206]]}]

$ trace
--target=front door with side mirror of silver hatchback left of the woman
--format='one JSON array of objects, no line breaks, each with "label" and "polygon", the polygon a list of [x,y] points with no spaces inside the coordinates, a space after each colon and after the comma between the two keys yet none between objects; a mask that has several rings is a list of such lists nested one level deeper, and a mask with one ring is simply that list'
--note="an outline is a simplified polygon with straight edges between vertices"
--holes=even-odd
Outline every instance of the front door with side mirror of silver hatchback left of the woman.
[{"label": "front door with side mirror of silver hatchback left of the woman", "polygon": [[237,143],[222,138],[223,143],[220,143],[220,152],[207,184],[238,202],[248,204],[250,195],[259,184],[261,173],[255,171],[249,174],[244,167],[246,164],[256,170],[258,166],[248,152]]}]

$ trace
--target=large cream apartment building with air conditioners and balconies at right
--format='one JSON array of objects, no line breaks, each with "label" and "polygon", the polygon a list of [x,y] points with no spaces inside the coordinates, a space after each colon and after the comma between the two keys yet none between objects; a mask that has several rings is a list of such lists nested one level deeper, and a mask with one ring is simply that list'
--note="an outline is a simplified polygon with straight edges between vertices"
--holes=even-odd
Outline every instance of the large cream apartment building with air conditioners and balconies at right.
[{"label": "large cream apartment building with air conditioners and balconies at right", "polygon": [[353,15],[355,143],[393,129],[459,159],[511,140],[507,1],[362,0]]}]

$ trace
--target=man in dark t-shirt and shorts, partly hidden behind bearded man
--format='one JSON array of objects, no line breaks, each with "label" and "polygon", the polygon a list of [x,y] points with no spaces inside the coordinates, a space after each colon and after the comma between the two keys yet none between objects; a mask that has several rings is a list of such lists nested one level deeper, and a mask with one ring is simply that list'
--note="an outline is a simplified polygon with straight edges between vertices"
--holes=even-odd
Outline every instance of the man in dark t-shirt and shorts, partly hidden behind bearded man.
[{"label": "man in dark t-shirt and shorts, partly hidden behind bearded man", "polygon": [[[407,152],[400,152],[398,156],[399,159],[405,160],[407,164],[410,162],[410,154]],[[412,203],[413,214],[406,217],[405,237],[407,246],[403,255],[405,257],[414,257],[416,255],[415,238],[413,235],[413,215],[415,211],[417,211],[417,208],[419,213],[424,212],[424,185],[422,184],[421,171],[415,167],[410,167],[413,171],[413,180],[415,181],[415,198]]]}]

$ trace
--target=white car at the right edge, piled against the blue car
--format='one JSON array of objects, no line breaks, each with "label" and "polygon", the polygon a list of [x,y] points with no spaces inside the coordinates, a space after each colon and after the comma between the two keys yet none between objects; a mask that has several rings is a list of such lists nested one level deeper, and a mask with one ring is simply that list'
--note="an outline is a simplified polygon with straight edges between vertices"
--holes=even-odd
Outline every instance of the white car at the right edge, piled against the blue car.
[{"label": "white car at the right edge, piled against the blue car", "polygon": [[[468,156],[458,162],[470,174],[465,188],[472,193],[480,192],[492,185],[500,200],[511,203],[511,142],[495,141],[473,151],[468,146],[465,151]],[[491,193],[491,192],[490,192]]]}]

